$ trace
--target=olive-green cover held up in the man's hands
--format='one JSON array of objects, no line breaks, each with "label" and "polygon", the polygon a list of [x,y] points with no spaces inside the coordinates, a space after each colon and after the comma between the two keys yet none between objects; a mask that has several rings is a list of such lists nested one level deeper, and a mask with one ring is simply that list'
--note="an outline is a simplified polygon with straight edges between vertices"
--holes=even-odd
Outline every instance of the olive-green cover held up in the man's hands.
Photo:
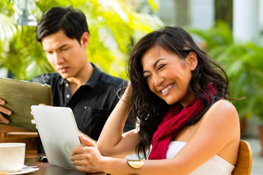
[{"label": "olive-green cover held up in the man's hands", "polygon": [[0,98],[6,101],[2,106],[12,111],[11,115],[2,113],[10,123],[1,124],[34,131],[37,129],[31,123],[34,119],[31,106],[40,103],[53,105],[50,85],[10,78],[0,78]]}]

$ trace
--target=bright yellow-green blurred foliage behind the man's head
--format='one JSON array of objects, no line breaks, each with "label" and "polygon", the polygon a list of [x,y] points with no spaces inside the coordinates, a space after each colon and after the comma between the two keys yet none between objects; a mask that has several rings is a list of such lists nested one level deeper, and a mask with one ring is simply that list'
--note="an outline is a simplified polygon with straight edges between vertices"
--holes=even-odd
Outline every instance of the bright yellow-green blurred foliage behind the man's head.
[{"label": "bright yellow-green blurred foliage behind the man's head", "polygon": [[[32,26],[17,26],[19,0],[0,2],[0,67],[7,67],[18,79],[31,79],[54,71],[45,58],[41,43],[37,42]],[[40,18],[53,6],[81,9],[87,17],[90,41],[88,58],[103,71],[126,77],[125,64],[133,43],[145,33],[163,25],[157,17],[134,10],[129,1],[123,0],[34,0],[32,12]],[[148,0],[153,9],[153,0]]]}]

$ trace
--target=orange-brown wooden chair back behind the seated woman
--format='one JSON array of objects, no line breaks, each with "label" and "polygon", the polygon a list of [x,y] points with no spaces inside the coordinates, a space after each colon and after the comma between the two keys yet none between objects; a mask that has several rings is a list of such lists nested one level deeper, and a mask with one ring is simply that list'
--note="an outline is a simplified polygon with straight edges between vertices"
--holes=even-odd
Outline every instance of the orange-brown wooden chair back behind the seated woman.
[{"label": "orange-brown wooden chair back behind the seated woman", "polygon": [[237,161],[232,171],[233,174],[249,175],[252,166],[252,149],[247,141],[240,140]]}]

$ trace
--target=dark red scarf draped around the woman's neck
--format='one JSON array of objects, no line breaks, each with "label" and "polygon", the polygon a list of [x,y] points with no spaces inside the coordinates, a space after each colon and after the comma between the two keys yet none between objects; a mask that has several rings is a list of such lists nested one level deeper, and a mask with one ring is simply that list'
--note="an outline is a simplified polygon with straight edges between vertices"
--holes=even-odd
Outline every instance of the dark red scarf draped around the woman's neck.
[{"label": "dark red scarf draped around the woman's neck", "polygon": [[[208,85],[205,91],[215,95],[217,90]],[[209,103],[211,98],[205,93],[205,100]],[[165,159],[170,141],[174,140],[181,131],[186,121],[193,119],[204,109],[204,104],[200,98],[194,98],[189,104],[183,107],[179,102],[175,103],[165,114],[162,122],[153,134],[152,149],[148,159]]]}]

